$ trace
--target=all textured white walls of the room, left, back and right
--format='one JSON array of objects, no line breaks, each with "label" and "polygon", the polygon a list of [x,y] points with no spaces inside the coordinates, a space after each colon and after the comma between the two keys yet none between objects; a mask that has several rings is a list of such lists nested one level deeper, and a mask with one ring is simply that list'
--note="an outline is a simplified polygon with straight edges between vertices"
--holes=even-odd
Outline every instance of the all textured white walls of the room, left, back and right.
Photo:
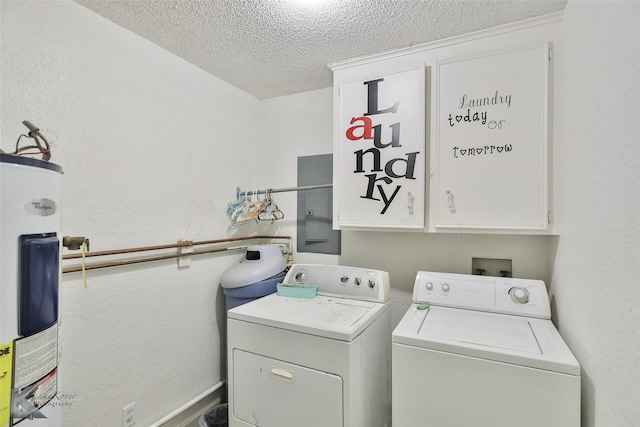
[{"label": "all textured white walls of the room, left, back and right", "polygon": [[[258,103],[80,6],[2,2],[0,14],[1,144],[12,146],[24,119],[54,140],[66,234],[87,234],[95,250],[294,234],[295,193],[277,196],[287,218],[273,226],[228,230],[224,207],[236,186],[293,185],[297,156],[330,152],[330,89]],[[583,365],[583,425],[633,425],[638,17],[635,2],[565,11],[555,65],[559,237],[343,232],[341,257],[296,260],[388,269],[397,321],[417,269],[467,272],[471,256],[512,257],[517,275],[551,284],[554,316]],[[213,306],[219,274],[237,258],[102,270],[89,274],[88,291],[65,275],[63,389],[82,399],[66,425],[119,425],[134,400],[149,424],[223,378]]]}]

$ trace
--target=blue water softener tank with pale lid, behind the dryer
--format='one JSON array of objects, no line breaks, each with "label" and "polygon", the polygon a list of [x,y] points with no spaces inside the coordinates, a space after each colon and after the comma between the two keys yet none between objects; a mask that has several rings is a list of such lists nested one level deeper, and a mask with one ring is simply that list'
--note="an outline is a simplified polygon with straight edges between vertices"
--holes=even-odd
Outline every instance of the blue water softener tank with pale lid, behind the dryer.
[{"label": "blue water softener tank with pale lid, behind the dryer", "polygon": [[227,310],[274,293],[286,273],[287,263],[279,246],[247,246],[245,258],[220,279]]}]

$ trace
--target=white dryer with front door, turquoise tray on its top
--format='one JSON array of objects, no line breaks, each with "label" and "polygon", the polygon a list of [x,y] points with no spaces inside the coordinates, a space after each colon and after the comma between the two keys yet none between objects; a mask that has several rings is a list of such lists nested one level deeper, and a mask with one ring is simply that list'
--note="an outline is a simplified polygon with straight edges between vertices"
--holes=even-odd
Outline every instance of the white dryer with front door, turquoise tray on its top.
[{"label": "white dryer with front door, turquoise tray on its top", "polygon": [[389,274],[296,264],[277,293],[228,312],[230,426],[384,427],[391,423]]}]

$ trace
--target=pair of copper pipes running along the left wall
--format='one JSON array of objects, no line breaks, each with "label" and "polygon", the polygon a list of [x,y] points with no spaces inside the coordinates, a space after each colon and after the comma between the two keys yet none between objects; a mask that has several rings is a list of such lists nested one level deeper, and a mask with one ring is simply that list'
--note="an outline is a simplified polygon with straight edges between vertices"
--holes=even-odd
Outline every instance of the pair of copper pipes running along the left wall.
[{"label": "pair of copper pipes running along the left wall", "polygon": [[[289,241],[291,241],[291,236],[231,237],[231,238],[227,238],[227,239],[203,240],[203,241],[198,241],[198,242],[191,242],[191,241],[187,240],[187,241],[181,241],[180,243],[173,243],[173,244],[169,244],[169,245],[143,246],[143,247],[139,247],[139,248],[114,249],[114,250],[110,250],[110,251],[91,252],[91,253],[87,252],[87,253],[85,253],[85,257],[87,257],[87,256],[118,255],[118,254],[124,254],[124,253],[144,252],[144,251],[152,251],[152,250],[160,250],[160,249],[172,249],[172,248],[181,248],[181,247],[196,246],[196,245],[209,245],[209,244],[217,244],[217,243],[230,243],[230,242],[237,242],[237,241],[242,241],[242,240],[255,240],[255,239],[271,239],[271,240],[288,239]],[[119,267],[119,266],[123,266],[123,265],[140,264],[140,263],[143,263],[143,262],[161,261],[161,260],[172,259],[172,258],[181,258],[181,257],[187,257],[187,256],[193,256],[193,255],[204,255],[204,254],[211,254],[211,253],[216,253],[216,252],[226,252],[226,251],[239,250],[239,249],[240,248],[208,249],[208,250],[203,250],[203,251],[193,251],[193,252],[187,252],[187,253],[175,253],[175,254],[169,254],[169,255],[157,255],[157,256],[149,256],[149,257],[135,258],[135,259],[126,259],[126,260],[119,260],[119,261],[107,261],[107,262],[101,262],[101,263],[85,264],[84,265],[84,270],[86,271],[86,270],[96,270],[96,269],[99,269],[99,268]],[[81,258],[81,257],[82,257],[82,254],[67,254],[67,255],[64,255],[62,258],[63,259],[77,259],[77,258]],[[62,269],[62,273],[74,273],[74,272],[78,272],[78,271],[82,271],[82,270],[83,270],[82,265],[76,265],[76,266],[72,266],[72,267],[63,268]]]}]

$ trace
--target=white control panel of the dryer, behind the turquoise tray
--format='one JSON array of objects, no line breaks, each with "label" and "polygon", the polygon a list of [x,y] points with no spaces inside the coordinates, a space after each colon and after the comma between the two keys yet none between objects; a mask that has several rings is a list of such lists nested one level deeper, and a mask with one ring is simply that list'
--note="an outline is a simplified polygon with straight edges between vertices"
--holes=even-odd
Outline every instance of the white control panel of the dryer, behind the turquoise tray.
[{"label": "white control panel of the dryer, behind the turquoise tray", "polygon": [[283,283],[315,285],[319,294],[366,301],[387,302],[391,296],[389,273],[359,267],[294,264]]}]

